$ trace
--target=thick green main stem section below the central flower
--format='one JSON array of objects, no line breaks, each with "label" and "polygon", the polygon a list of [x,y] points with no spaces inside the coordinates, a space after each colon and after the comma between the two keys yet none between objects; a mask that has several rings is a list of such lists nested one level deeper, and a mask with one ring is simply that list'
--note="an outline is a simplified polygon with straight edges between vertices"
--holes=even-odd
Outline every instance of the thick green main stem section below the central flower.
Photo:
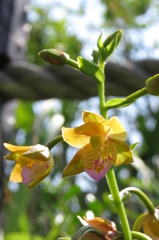
[{"label": "thick green main stem section below the central flower", "polygon": [[131,237],[131,232],[130,232],[130,226],[129,226],[128,219],[126,216],[124,204],[123,204],[122,200],[120,199],[119,189],[118,189],[118,185],[117,185],[113,167],[111,167],[109,169],[109,171],[107,172],[106,178],[107,178],[107,182],[108,182],[108,185],[109,185],[109,188],[111,191],[111,195],[113,197],[114,204],[117,208],[117,212],[118,212],[121,224],[122,224],[124,237],[126,240],[131,240],[132,237]]}]

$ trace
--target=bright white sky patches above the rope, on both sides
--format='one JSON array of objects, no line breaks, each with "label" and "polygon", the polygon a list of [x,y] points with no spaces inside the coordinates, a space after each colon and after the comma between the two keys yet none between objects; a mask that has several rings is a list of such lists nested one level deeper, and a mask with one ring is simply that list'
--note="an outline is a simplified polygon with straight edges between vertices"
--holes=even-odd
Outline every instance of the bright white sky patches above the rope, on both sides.
[{"label": "bright white sky patches above the rope, on both sides", "polygon": [[[99,0],[30,0],[32,5],[41,5],[42,7],[47,7],[52,4],[50,16],[53,19],[60,20],[63,18],[67,19],[68,31],[72,34],[76,34],[80,39],[82,39],[85,44],[82,51],[82,55],[89,57],[91,55],[92,49],[96,47],[96,41],[101,31],[102,24],[102,15],[105,11],[105,6],[99,4]],[[84,15],[82,17],[78,14],[70,14],[68,16],[65,6],[74,11],[80,9],[81,4],[84,4]],[[135,58],[159,58],[159,48],[152,52],[152,46],[154,43],[159,45],[159,35],[156,34],[157,29],[159,30],[159,23],[156,21],[158,16],[157,8],[154,8],[153,5],[148,10],[147,14],[143,17],[140,16],[137,18],[137,21],[142,22],[143,24],[151,19],[151,22],[156,22],[151,26],[148,26],[146,29],[140,30],[139,32],[132,31],[131,38],[134,42],[138,42],[139,35],[143,34],[143,42],[146,46],[136,53]],[[93,27],[92,27],[93,26]],[[95,27],[95,28],[94,28]],[[110,31],[107,32],[104,30],[103,39],[110,34]],[[134,56],[133,56],[134,57]]]}]

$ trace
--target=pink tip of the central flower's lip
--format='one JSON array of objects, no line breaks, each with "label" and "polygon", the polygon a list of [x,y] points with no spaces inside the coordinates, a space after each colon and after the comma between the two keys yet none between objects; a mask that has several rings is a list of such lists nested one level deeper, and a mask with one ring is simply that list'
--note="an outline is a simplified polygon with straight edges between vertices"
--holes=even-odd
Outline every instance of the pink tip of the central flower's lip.
[{"label": "pink tip of the central flower's lip", "polygon": [[108,172],[108,170],[111,168],[111,166],[108,166],[106,168],[100,169],[100,171],[97,171],[96,169],[84,169],[84,171],[94,180],[100,181],[105,174]]}]

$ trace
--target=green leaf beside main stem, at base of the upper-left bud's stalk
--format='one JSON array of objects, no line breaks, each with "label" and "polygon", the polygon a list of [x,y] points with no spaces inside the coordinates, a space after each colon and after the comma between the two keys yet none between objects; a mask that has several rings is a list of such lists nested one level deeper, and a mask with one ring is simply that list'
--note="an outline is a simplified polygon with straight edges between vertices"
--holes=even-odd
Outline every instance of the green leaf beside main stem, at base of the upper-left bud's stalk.
[{"label": "green leaf beside main stem, at base of the upper-left bud's stalk", "polygon": [[82,72],[91,78],[97,80],[98,82],[104,81],[104,73],[103,71],[96,65],[89,62],[87,59],[78,57],[78,66]]}]

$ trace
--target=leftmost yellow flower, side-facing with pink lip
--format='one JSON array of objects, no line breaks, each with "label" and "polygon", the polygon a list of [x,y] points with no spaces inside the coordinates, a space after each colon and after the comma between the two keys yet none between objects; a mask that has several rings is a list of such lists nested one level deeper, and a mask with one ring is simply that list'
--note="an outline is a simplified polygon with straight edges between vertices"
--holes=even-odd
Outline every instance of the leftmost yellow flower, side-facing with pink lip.
[{"label": "leftmost yellow flower, side-facing with pink lip", "polygon": [[43,145],[14,146],[4,143],[4,146],[11,152],[5,158],[16,162],[10,175],[11,182],[23,182],[28,184],[27,189],[31,189],[53,168],[53,157],[49,149]]}]

